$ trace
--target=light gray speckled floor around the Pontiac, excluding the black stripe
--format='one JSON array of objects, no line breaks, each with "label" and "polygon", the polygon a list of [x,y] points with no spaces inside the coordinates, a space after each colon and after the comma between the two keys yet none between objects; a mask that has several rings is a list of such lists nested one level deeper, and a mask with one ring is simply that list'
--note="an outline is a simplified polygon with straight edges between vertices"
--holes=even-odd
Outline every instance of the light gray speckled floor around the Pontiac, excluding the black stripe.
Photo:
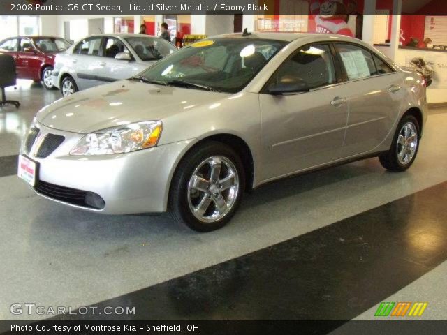
[{"label": "light gray speckled floor around the Pontiac, excluding the black stripe", "polygon": [[[18,153],[34,113],[60,94],[21,82],[7,96],[22,107],[0,109],[0,156]],[[166,215],[101,216],[69,209],[38,198],[15,176],[0,177],[0,319],[14,318],[9,306],[16,302],[73,308],[95,304],[440,184],[447,180],[445,112],[430,115],[418,160],[408,172],[388,173],[369,159],[269,184],[247,195],[228,227],[210,234],[174,225]],[[445,265],[393,299],[409,299],[426,283],[439,283],[443,274]],[[444,283],[432,288],[439,301],[447,298]],[[436,318],[446,318],[446,304],[438,307]]]}]

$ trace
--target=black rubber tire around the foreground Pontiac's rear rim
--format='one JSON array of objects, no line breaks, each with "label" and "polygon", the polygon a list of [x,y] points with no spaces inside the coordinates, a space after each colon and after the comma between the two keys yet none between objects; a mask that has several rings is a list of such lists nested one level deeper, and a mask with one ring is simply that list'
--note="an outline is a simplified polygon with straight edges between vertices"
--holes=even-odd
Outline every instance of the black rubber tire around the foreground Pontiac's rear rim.
[{"label": "black rubber tire around the foreground Pontiac's rear rim", "polygon": [[[406,164],[402,164],[397,156],[397,140],[399,139],[399,135],[402,131],[402,128],[405,124],[411,122],[416,126],[417,131],[417,139],[418,139],[418,145],[416,147],[416,152],[411,158],[411,161],[409,161]],[[410,168],[411,165],[413,165],[413,162],[416,159],[416,156],[418,155],[419,150],[419,140],[420,140],[420,124],[416,117],[413,117],[413,115],[404,115],[402,119],[400,120],[399,124],[397,125],[396,132],[393,138],[393,142],[391,143],[390,149],[385,153],[379,156],[379,161],[383,168],[386,168],[386,170],[393,171],[393,172],[403,172]]]}]

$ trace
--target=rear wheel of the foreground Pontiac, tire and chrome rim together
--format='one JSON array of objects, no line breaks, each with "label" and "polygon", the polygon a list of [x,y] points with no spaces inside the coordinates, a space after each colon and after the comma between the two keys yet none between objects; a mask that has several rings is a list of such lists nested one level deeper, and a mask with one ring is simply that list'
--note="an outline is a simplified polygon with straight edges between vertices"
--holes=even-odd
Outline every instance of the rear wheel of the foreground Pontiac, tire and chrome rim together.
[{"label": "rear wheel of the foreground Pontiac, tire and chrome rim together", "polygon": [[390,150],[379,156],[383,168],[394,172],[407,170],[419,149],[420,125],[413,115],[404,115],[397,126]]}]

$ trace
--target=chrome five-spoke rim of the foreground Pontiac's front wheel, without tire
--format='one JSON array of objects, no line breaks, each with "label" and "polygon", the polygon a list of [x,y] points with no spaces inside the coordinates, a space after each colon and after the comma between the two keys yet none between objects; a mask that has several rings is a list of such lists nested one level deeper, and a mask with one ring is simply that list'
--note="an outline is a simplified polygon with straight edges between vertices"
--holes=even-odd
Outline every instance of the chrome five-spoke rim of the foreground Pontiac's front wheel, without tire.
[{"label": "chrome five-spoke rim of the foreground Pontiac's front wheel, without tire", "polygon": [[233,208],[239,187],[237,169],[228,158],[207,158],[198,165],[189,179],[189,209],[199,221],[219,221]]}]

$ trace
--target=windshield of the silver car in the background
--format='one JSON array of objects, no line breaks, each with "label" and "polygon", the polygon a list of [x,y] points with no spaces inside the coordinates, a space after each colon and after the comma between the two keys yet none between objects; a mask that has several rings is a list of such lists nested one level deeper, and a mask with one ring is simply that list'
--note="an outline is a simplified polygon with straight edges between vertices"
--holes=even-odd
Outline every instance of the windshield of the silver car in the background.
[{"label": "windshield of the silver car in the background", "polygon": [[156,37],[130,37],[126,41],[142,61],[155,61],[177,51],[174,45]]}]

